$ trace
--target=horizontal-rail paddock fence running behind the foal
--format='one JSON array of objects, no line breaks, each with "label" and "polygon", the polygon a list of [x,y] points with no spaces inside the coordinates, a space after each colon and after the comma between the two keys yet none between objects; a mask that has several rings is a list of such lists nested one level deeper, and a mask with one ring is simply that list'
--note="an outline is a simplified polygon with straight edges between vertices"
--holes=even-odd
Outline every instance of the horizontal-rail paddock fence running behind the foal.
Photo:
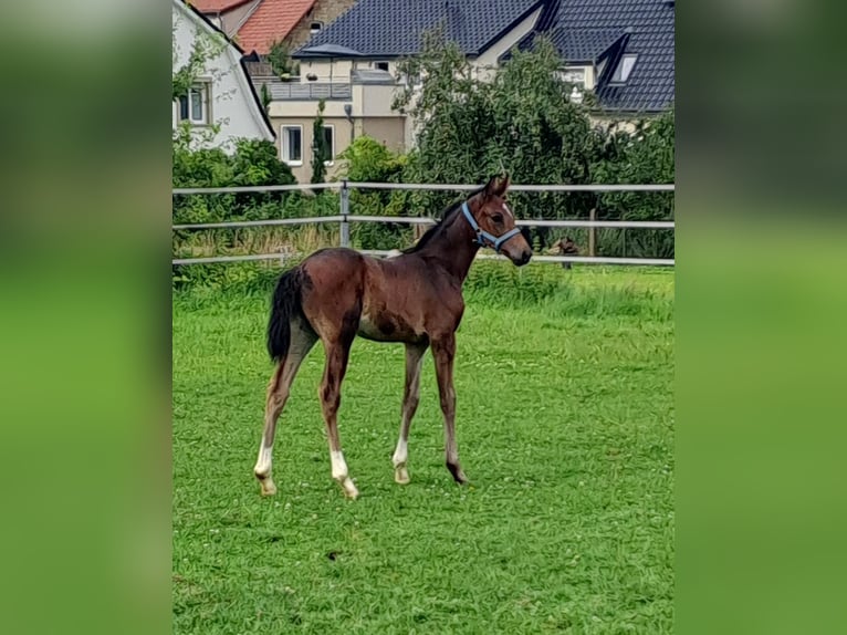
[{"label": "horizontal-rail paddock fence running behind the foal", "polygon": [[[451,185],[451,184],[395,184],[395,183],[351,183],[346,180],[323,184],[296,184],[296,185],[269,185],[244,187],[218,187],[218,188],[174,188],[175,196],[199,194],[238,194],[238,192],[269,192],[269,191],[313,191],[321,189],[337,189],[341,194],[339,214],[334,216],[318,216],[311,218],[275,218],[266,220],[243,220],[229,222],[206,222],[174,225],[174,230],[202,230],[244,227],[272,227],[281,225],[310,225],[337,222],[341,227],[341,247],[349,247],[349,228],[352,222],[390,222],[409,225],[433,225],[431,218],[408,216],[357,216],[351,214],[351,189],[399,189],[399,190],[429,190],[429,191],[469,191],[479,188],[479,185]],[[512,185],[510,191],[545,191],[545,192],[571,192],[571,191],[675,191],[673,184],[667,185]],[[639,229],[675,229],[672,220],[637,221],[637,220],[542,220],[522,219],[516,220],[519,227],[578,227],[578,228],[639,228]],[[362,250],[362,253],[370,256],[388,256],[389,250]],[[245,256],[215,256],[208,258],[175,258],[172,264],[201,264],[211,262],[239,262],[255,260],[275,260],[286,256],[276,253],[258,253]],[[500,256],[480,253],[480,259],[502,258]],[[582,256],[533,256],[538,262],[582,262],[594,264],[642,264],[642,266],[673,266],[675,259],[663,258],[604,258]]]}]

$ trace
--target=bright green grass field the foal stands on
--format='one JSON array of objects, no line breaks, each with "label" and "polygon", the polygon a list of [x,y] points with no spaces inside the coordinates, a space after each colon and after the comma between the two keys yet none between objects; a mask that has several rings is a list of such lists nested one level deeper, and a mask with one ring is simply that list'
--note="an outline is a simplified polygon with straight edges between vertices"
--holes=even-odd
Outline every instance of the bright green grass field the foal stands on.
[{"label": "bright green grass field the foal stands on", "polygon": [[321,346],[263,499],[266,294],[175,296],[175,633],[672,631],[673,272],[504,267],[474,266],[458,334],[471,485],[443,465],[429,353],[394,482],[402,345],[357,340],[339,413],[356,501],[330,476]]}]

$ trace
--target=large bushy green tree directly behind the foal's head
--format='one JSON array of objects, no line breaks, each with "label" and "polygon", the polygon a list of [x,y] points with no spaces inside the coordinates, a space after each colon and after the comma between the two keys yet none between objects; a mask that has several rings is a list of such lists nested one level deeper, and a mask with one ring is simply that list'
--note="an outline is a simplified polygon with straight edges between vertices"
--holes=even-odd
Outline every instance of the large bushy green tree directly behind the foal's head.
[{"label": "large bushy green tree directly behind the foal's head", "polygon": [[[420,55],[399,67],[405,76],[421,76],[422,86],[407,85],[394,104],[419,126],[408,179],[483,183],[505,170],[516,183],[589,183],[596,139],[587,107],[569,101],[573,85],[561,79],[562,66],[555,48],[540,38],[484,80],[442,31],[427,33]],[[448,202],[442,195],[421,198],[430,208]],[[551,192],[512,198],[522,218],[586,216],[593,201]]]}]

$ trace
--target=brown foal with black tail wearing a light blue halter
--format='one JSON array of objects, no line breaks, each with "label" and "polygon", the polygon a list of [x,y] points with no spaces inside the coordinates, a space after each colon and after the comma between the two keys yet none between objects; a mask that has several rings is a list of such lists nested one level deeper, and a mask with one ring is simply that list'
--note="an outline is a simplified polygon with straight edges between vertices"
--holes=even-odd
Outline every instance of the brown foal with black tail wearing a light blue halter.
[{"label": "brown foal with black tail wearing a light blue halter", "polygon": [[532,257],[503,200],[508,187],[508,177],[492,178],[466,201],[453,205],[415,247],[395,258],[379,260],[352,249],[323,249],[282,274],[268,325],[268,351],[276,369],[268,386],[264,431],[253,470],[263,495],[276,492],[271,478],[276,419],[300,364],[321,340],[326,365],[320,396],[332,476],[346,496],[358,496],[342,454],[337,424],[341,384],[356,335],[406,345],[402,420],[393,457],[395,480],[409,482],[409,427],[418,407],[421,360],[431,347],[445,417],[447,467],[457,482],[467,482],[456,446],[453,391],[456,330],[464,311],[462,283],[480,247],[502,251],[519,267]]}]

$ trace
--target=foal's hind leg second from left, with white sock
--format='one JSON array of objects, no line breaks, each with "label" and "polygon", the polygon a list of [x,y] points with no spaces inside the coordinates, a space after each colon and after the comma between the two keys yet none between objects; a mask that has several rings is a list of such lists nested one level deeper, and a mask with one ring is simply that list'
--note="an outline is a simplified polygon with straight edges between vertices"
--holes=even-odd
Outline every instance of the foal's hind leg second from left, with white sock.
[{"label": "foal's hind leg second from left, with white sock", "polygon": [[344,337],[342,341],[323,340],[326,350],[326,366],[324,378],[321,382],[321,406],[326,421],[326,437],[330,441],[330,460],[332,461],[332,475],[344,489],[349,498],[356,498],[358,490],[349,478],[347,464],[342,452],[341,438],[338,437],[338,407],[341,406],[341,386],[344,374],[347,372],[347,358],[353,337]]}]

